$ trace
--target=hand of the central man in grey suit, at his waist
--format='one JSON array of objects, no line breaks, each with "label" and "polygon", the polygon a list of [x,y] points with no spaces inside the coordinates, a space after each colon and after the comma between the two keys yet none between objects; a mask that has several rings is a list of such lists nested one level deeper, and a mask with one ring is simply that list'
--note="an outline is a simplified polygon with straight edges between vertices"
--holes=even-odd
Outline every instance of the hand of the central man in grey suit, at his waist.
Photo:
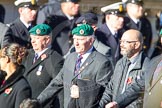
[{"label": "hand of the central man in grey suit, at his waist", "polygon": [[79,87],[77,85],[72,85],[70,88],[71,90],[71,97],[72,98],[79,98]]}]

